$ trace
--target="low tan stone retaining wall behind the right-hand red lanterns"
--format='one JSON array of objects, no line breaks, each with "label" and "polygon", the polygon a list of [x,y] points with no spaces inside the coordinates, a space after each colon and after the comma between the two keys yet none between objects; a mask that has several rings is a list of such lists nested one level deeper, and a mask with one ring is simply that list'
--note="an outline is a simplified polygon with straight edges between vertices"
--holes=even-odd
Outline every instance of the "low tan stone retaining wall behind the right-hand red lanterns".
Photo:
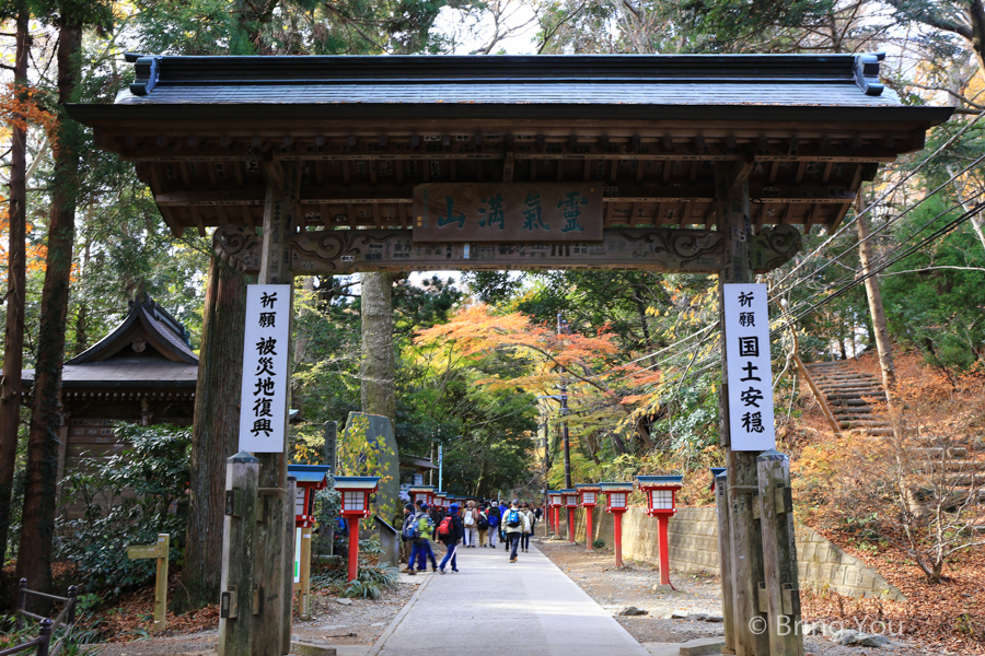
[{"label": "low tan stone retaining wall behind the right-hand red lanterns", "polygon": [[[567,536],[561,511],[561,535]],[[612,515],[595,508],[593,537],[612,548]],[[540,528],[540,527],[538,527]],[[538,531],[540,532],[540,531]],[[584,543],[584,512],[575,512],[576,539]],[[715,508],[677,508],[669,525],[671,571],[718,573],[718,515]],[[660,562],[657,520],[642,506],[623,515],[623,558],[656,565]],[[801,587],[832,589],[850,597],[905,600],[903,593],[876,570],[845,553],[808,526],[797,525],[797,565]]]}]

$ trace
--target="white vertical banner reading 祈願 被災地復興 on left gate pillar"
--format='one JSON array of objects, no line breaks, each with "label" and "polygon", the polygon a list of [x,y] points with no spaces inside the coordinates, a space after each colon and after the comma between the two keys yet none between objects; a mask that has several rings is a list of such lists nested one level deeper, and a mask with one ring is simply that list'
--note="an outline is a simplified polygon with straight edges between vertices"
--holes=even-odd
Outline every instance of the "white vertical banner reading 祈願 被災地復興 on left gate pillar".
[{"label": "white vertical banner reading \u7948\u9858 \u88ab\u707d\u5730\u5fa9\u8208 on left gate pillar", "polygon": [[291,285],[247,285],[240,450],[252,454],[283,453],[290,384],[290,313]]}]

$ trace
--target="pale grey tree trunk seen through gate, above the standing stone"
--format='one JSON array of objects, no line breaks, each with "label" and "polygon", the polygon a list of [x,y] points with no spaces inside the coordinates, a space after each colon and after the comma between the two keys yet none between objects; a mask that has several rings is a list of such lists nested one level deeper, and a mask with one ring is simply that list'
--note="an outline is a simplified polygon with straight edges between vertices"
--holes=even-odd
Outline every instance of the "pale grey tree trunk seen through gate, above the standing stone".
[{"label": "pale grey tree trunk seen through gate, above the standing stone", "polygon": [[362,274],[362,411],[396,421],[393,354],[393,274]]}]

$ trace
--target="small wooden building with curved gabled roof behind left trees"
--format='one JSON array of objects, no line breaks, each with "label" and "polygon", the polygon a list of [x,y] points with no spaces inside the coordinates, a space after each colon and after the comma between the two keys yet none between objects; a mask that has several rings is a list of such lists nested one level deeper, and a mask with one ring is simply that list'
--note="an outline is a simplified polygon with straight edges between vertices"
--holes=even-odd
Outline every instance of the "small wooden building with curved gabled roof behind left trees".
[{"label": "small wooden building with curved gabled roof behind left trees", "polygon": [[[58,480],[80,468],[83,454],[123,453],[115,422],[192,425],[197,382],[198,355],[185,327],[146,294],[130,301],[119,326],[65,363]],[[26,402],[34,370],[24,371],[23,385]]]}]

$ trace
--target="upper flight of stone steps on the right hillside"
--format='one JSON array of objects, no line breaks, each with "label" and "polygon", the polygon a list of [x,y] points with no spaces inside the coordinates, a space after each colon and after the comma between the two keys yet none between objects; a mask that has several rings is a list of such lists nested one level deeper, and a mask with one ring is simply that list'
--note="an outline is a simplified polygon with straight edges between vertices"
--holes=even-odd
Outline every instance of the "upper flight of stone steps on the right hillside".
[{"label": "upper flight of stone steps on the right hillside", "polygon": [[857,373],[850,361],[814,362],[807,366],[811,377],[827,399],[835,421],[843,431],[860,431],[866,435],[887,435],[892,424],[877,412],[885,405],[885,390],[876,376]]}]

